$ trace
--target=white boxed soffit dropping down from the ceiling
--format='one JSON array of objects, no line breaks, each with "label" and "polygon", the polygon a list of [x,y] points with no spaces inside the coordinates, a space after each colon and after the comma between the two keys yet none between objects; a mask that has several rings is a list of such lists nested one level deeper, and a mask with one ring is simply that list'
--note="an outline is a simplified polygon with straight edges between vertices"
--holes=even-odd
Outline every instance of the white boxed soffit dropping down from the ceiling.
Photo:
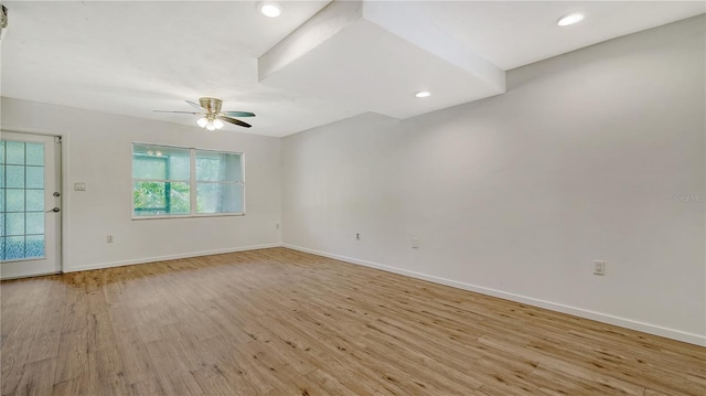
[{"label": "white boxed soffit dropping down from the ceiling", "polygon": [[[408,118],[505,92],[505,72],[388,1],[333,1],[258,58],[259,81]],[[417,98],[417,92],[431,96]]]}]

